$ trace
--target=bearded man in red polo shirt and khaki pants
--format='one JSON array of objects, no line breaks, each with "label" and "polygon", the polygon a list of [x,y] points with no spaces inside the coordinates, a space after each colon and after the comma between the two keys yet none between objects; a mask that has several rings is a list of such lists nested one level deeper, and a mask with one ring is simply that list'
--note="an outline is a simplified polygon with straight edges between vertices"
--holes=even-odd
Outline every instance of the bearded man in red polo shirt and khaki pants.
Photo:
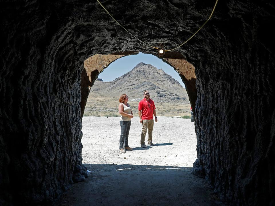
[{"label": "bearded man in red polo shirt and khaki pants", "polygon": [[148,130],[148,145],[153,146],[155,145],[152,142],[152,134],[153,134],[153,127],[154,127],[154,119],[153,114],[155,116],[155,121],[157,122],[157,115],[156,115],[156,107],[155,103],[152,99],[150,99],[150,94],[146,90],[143,93],[144,99],[140,101],[138,104],[138,115],[140,116],[140,123],[142,123],[142,133],[140,137],[140,145],[143,148],[147,148],[145,144],[145,136]]}]

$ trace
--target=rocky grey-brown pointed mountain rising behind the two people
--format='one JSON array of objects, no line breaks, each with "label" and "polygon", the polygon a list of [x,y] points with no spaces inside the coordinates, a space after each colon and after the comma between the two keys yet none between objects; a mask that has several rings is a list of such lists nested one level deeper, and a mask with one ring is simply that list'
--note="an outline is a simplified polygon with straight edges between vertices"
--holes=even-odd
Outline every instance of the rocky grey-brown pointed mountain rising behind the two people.
[{"label": "rocky grey-brown pointed mountain rising behind the two people", "polygon": [[[89,97],[100,92],[106,97],[119,97],[126,93],[129,101],[140,101],[143,91],[148,90],[155,102],[173,102],[189,104],[186,90],[172,76],[151,64],[140,62],[131,71],[111,82],[95,81]],[[89,99],[88,97],[88,99]]]}]

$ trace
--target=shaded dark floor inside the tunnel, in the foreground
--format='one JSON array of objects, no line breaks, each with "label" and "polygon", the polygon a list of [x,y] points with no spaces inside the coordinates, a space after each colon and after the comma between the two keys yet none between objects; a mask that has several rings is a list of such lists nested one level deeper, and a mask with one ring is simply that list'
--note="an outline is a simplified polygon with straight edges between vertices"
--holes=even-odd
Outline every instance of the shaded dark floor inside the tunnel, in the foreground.
[{"label": "shaded dark floor inside the tunnel, in the foreground", "polygon": [[55,205],[222,205],[190,167],[85,164],[89,177]]}]

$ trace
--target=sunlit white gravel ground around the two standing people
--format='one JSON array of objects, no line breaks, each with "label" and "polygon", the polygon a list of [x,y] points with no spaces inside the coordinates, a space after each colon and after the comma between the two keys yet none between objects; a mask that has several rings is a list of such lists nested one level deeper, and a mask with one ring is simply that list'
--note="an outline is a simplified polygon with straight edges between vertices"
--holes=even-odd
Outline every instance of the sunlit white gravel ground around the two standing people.
[{"label": "sunlit white gravel ground around the two standing people", "polygon": [[145,149],[140,147],[142,124],[138,117],[134,117],[129,133],[129,146],[133,150],[126,154],[119,153],[119,117],[83,117],[82,125],[84,164],[192,167],[197,159],[197,139],[190,119],[158,117],[152,141],[156,146]]}]

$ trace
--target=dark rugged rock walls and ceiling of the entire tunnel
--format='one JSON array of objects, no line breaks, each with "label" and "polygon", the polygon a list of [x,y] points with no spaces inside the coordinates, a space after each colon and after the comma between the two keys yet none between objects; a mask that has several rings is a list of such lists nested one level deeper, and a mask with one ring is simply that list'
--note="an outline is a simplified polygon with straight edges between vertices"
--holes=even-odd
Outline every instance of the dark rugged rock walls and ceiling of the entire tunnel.
[{"label": "dark rugged rock walls and ceiling of the entire tunnel", "polygon": [[[130,32],[170,49],[199,28],[214,2],[103,4]],[[177,50],[197,76],[196,166],[231,205],[274,205],[274,14],[274,3],[219,1],[212,20]],[[84,60],[156,51],[96,1],[2,2],[0,15],[0,203],[51,202],[74,170],[83,171]]]}]

